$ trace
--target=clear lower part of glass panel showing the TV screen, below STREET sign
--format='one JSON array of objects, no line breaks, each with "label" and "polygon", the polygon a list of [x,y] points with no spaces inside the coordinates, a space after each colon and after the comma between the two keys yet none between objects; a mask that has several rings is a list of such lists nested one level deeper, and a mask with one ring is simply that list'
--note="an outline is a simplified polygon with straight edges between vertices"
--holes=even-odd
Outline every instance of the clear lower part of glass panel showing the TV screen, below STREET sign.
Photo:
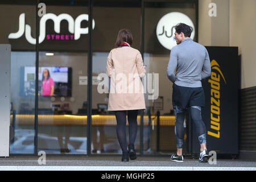
[{"label": "clear lower part of glass panel showing the TV screen, below STREET sign", "polygon": [[[87,53],[54,52],[47,56],[40,52],[39,60],[38,150],[86,154],[87,85],[79,78],[87,75]],[[53,83],[47,81],[47,70]],[[53,86],[53,94],[50,88],[44,94],[44,82]]]}]

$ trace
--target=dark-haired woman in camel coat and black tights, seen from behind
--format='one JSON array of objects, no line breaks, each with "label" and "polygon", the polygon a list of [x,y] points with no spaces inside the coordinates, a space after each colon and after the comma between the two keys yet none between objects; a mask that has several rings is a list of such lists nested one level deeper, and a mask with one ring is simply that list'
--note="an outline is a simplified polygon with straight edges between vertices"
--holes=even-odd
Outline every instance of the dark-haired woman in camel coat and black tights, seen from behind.
[{"label": "dark-haired woman in camel coat and black tights, seen from behind", "polygon": [[[122,162],[136,159],[134,142],[139,109],[146,109],[141,77],[146,73],[141,53],[132,48],[130,30],[118,32],[115,48],[109,53],[106,73],[110,77],[108,110],[115,111],[117,137],[122,149]],[[126,113],[129,122],[129,150],[126,143]]]}]

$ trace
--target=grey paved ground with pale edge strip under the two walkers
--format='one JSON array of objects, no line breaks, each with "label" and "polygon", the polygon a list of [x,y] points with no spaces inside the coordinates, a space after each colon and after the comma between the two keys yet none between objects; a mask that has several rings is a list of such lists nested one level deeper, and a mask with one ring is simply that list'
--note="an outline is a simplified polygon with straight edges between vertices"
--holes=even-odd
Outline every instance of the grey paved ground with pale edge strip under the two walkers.
[{"label": "grey paved ground with pale edge strip under the two walkers", "polygon": [[138,156],[137,160],[121,162],[121,156],[46,156],[46,164],[38,156],[0,158],[0,170],[254,170],[256,162],[238,159],[217,159],[217,164],[199,163],[185,158],[183,163],[169,157]]}]

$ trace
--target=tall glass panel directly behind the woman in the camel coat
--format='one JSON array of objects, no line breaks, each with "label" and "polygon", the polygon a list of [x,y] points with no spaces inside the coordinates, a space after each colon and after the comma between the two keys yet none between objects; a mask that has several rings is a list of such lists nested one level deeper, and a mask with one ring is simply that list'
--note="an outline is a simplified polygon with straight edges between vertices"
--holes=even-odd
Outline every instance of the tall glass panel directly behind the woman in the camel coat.
[{"label": "tall glass panel directly behind the woman in the camel coat", "polygon": [[[141,42],[141,3],[114,2],[94,3],[93,19],[96,26],[93,30],[93,87],[92,87],[92,154],[116,154],[121,152],[116,133],[116,119],[113,111],[108,111],[108,94],[98,92],[97,76],[106,73],[106,60],[114,48],[118,31],[128,28],[133,34],[133,47],[140,50]],[[108,83],[108,77],[106,77]],[[108,89],[108,88],[107,88]],[[138,130],[135,149],[139,151],[140,136]],[[128,122],[126,123],[127,142],[129,143]]]}]

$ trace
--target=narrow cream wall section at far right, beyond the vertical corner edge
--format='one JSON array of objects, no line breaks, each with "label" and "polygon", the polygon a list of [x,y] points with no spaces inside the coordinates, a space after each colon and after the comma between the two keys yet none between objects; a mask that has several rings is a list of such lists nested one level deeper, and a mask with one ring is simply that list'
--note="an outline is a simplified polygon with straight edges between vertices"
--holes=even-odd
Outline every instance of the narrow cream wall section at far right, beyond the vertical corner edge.
[{"label": "narrow cream wall section at far right, beyond the vertical corner edge", "polygon": [[241,87],[256,86],[256,1],[230,1],[229,46],[238,46],[242,55]]}]

